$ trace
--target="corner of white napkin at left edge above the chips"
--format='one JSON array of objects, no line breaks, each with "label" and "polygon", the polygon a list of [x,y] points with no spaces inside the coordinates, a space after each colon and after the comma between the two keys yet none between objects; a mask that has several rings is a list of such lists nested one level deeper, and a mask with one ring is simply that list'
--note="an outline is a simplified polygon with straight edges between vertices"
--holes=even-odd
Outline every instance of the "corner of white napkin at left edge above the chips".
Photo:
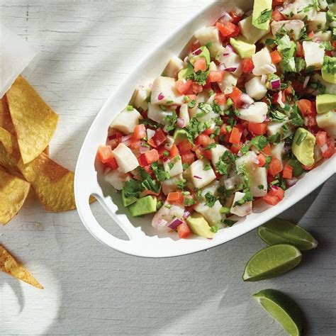
[{"label": "corner of white napkin at left edge above the chips", "polygon": [[38,55],[38,50],[0,23],[0,98]]}]

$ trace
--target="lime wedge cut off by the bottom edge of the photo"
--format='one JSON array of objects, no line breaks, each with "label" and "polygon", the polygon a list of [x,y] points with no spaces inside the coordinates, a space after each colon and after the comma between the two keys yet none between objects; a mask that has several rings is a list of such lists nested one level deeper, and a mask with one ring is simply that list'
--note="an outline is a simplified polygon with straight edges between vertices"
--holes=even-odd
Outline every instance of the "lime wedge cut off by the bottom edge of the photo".
[{"label": "lime wedge cut off by the bottom edge of the photo", "polygon": [[289,298],[289,296],[275,289],[264,289],[259,291],[259,293],[255,293],[253,297],[289,335],[301,335],[301,311],[295,301]]}]

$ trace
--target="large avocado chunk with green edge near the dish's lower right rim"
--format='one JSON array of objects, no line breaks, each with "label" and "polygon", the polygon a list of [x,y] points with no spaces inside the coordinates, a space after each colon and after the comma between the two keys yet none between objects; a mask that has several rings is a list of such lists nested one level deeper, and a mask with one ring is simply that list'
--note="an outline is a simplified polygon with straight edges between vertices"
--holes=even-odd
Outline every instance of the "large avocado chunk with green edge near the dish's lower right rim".
[{"label": "large avocado chunk with green edge near the dish's lower right rim", "polygon": [[305,166],[314,164],[315,137],[305,128],[298,128],[293,138],[291,150],[299,162]]}]

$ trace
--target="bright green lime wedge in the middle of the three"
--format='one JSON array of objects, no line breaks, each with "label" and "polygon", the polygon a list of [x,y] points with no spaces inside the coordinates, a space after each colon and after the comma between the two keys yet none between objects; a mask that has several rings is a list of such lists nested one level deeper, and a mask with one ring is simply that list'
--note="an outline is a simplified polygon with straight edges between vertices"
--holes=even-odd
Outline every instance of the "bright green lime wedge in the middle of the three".
[{"label": "bright green lime wedge in the middle of the three", "polygon": [[295,246],[279,244],[260,250],[247,262],[242,279],[259,281],[274,278],[293,269],[301,262],[302,254]]}]

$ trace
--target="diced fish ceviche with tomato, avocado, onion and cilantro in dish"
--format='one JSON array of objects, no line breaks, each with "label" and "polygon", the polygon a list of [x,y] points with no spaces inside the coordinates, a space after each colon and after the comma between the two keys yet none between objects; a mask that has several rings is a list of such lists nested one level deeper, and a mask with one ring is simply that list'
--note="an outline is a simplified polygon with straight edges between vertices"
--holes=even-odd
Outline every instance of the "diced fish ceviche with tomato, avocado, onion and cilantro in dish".
[{"label": "diced fish ceviche with tomato, avocado, onion and cilantro in dish", "polygon": [[97,157],[130,215],[211,238],[335,153],[336,4],[255,0],[138,86]]}]

